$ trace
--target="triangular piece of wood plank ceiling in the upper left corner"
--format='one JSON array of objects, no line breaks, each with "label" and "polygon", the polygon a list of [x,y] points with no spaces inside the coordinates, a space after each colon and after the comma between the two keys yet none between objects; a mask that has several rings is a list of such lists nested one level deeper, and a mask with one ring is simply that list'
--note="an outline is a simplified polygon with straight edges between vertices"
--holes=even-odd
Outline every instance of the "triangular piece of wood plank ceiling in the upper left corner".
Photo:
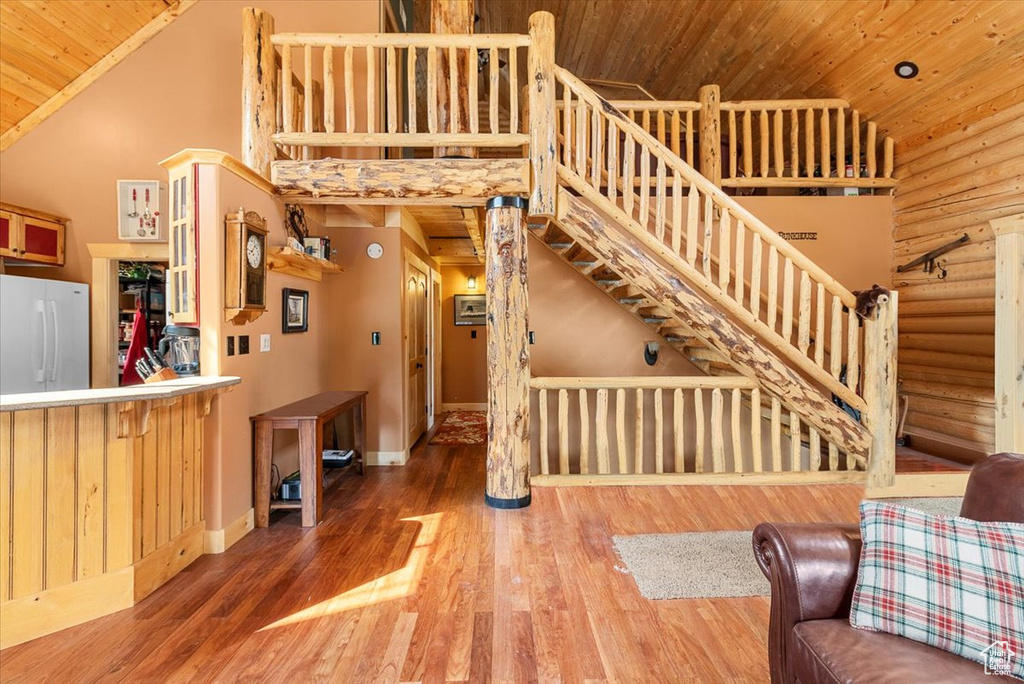
[{"label": "triangular piece of wood plank ceiling in the upper left corner", "polygon": [[2,146],[16,125],[31,129],[194,1],[0,2]]}]

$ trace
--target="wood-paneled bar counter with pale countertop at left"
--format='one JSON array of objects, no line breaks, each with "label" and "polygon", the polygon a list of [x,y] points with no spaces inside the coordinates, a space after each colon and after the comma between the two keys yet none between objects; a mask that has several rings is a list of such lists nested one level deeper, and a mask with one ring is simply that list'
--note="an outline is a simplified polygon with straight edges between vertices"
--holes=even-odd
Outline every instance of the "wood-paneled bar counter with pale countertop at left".
[{"label": "wood-paneled bar counter with pale countertop at left", "polygon": [[203,553],[204,419],[240,382],[0,395],[0,648],[130,607]]}]

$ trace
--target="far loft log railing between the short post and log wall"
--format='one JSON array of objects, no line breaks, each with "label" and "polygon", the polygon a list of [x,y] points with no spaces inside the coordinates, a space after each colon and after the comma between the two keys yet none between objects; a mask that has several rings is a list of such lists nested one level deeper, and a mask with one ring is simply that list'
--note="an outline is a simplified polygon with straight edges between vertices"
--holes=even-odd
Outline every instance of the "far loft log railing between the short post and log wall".
[{"label": "far loft log railing between the short post and log wall", "polygon": [[727,187],[895,184],[893,139],[843,99],[722,102],[719,130]]}]

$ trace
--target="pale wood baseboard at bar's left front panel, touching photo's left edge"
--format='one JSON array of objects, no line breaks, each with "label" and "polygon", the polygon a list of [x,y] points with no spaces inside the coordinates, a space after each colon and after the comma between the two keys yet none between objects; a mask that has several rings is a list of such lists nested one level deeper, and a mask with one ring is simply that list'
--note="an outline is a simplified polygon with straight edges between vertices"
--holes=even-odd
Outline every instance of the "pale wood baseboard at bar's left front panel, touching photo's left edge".
[{"label": "pale wood baseboard at bar's left front panel, touching photo's left edge", "polygon": [[130,608],[134,580],[135,569],[125,567],[5,602],[0,648]]}]

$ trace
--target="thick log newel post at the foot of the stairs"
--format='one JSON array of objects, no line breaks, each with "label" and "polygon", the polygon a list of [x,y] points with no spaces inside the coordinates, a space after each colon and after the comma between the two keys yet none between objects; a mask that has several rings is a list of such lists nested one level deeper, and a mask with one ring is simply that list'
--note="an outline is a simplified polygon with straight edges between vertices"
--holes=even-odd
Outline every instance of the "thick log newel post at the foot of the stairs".
[{"label": "thick log newel post at the foot of the stairs", "polygon": [[896,481],[896,344],[899,294],[880,303],[876,317],[864,322],[864,426],[871,433],[867,486]]}]

